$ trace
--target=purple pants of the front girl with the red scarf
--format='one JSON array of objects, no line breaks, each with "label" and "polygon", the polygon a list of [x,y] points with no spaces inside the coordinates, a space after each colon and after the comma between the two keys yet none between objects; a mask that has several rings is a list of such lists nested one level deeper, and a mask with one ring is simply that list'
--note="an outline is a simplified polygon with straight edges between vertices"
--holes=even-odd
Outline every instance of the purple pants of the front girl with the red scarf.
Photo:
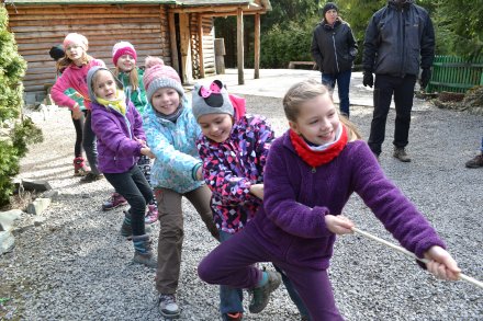
[{"label": "purple pants of the front girl with the red scarf", "polygon": [[256,229],[248,225],[201,261],[198,266],[200,278],[209,284],[252,288],[261,277],[261,271],[252,265],[257,262],[272,262],[292,280],[308,309],[311,320],[344,320],[335,305],[326,270],[287,262],[281,255],[266,249],[259,240],[261,238]]}]

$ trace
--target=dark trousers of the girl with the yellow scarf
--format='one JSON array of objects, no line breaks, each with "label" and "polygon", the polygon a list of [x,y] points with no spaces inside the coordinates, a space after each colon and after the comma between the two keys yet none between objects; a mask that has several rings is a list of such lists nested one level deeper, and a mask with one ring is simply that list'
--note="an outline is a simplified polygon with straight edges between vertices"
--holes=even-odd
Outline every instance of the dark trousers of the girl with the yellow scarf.
[{"label": "dark trousers of the girl with the yellow scarf", "polygon": [[137,165],[124,173],[104,173],[105,179],[130,204],[133,236],[145,234],[146,204],[153,200],[153,190]]}]

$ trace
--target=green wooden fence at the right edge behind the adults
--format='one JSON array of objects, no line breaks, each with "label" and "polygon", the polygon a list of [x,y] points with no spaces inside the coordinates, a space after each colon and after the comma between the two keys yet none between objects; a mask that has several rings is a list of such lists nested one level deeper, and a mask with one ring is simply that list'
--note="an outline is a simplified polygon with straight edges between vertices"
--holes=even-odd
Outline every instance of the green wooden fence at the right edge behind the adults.
[{"label": "green wooden fence at the right edge behind the adults", "polygon": [[453,56],[436,56],[427,92],[461,92],[483,85],[483,57],[464,60]]}]

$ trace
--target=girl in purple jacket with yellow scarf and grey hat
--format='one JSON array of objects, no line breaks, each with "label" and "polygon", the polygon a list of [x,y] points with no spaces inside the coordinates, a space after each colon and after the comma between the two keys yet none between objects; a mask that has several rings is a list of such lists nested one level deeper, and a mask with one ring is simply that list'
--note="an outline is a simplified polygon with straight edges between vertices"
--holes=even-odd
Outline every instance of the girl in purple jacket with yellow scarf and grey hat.
[{"label": "girl in purple jacket with yellow scarf and grey hat", "polygon": [[92,108],[92,130],[98,136],[99,169],[130,204],[123,226],[132,230],[135,263],[156,267],[151,240],[145,232],[146,204],[153,191],[136,165],[139,156],[154,157],[146,146],[142,118],[126,100],[121,83],[104,67],[92,67],[87,76]]}]

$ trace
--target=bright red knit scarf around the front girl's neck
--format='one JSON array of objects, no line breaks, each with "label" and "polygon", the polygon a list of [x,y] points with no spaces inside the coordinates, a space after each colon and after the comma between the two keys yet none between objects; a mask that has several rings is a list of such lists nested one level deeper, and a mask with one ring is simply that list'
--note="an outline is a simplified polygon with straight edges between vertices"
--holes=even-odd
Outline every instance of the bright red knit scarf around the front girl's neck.
[{"label": "bright red knit scarf around the front girl's neck", "polygon": [[292,129],[290,129],[290,140],[302,160],[311,167],[316,168],[330,162],[346,147],[347,129],[342,124],[340,124],[340,126],[342,126],[340,138],[325,150],[312,150],[305,140]]}]

